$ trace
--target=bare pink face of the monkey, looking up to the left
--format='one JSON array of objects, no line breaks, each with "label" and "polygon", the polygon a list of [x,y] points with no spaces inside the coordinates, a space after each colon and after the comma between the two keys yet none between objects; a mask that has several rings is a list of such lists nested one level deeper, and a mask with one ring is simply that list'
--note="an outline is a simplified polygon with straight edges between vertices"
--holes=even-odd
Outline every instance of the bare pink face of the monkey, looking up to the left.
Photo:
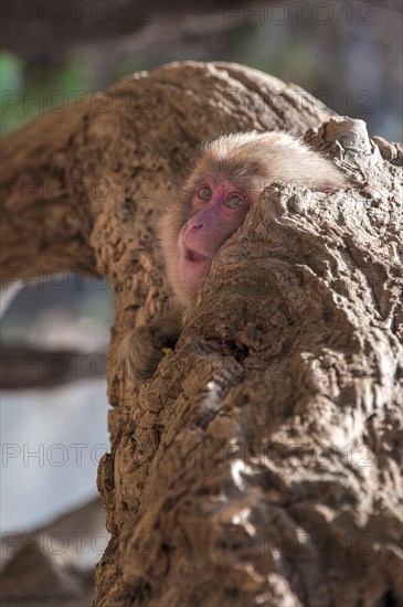
[{"label": "bare pink face of the monkey, looking up to the left", "polygon": [[240,227],[251,207],[240,184],[205,179],[194,188],[193,214],[179,233],[180,277],[198,290],[220,246]]}]

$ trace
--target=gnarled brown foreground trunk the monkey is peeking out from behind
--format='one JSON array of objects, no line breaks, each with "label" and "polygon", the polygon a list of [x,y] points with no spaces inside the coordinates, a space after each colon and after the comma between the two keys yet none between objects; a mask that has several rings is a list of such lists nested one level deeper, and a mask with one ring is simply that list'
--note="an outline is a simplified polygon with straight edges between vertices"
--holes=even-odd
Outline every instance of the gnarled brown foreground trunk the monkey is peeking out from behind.
[{"label": "gnarled brown foreground trunk the monkey is peeking out from behind", "polygon": [[403,600],[402,172],[362,123],[308,139],[367,177],[273,185],[220,251],[100,470],[98,605]]}]

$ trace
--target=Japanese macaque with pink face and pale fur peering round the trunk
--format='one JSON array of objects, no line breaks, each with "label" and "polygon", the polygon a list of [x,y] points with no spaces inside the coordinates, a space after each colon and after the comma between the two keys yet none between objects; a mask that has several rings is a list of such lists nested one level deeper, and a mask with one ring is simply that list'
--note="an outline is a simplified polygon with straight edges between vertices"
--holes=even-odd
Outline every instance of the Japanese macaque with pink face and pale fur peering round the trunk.
[{"label": "Japanese macaque with pink face and pale fur peering round the trunk", "polygon": [[275,181],[321,192],[349,183],[330,160],[287,132],[241,132],[204,146],[159,225],[176,305],[169,316],[129,336],[126,361],[135,379],[150,377],[166,349],[174,347],[183,316],[191,310],[218,249],[241,226],[264,188]]}]

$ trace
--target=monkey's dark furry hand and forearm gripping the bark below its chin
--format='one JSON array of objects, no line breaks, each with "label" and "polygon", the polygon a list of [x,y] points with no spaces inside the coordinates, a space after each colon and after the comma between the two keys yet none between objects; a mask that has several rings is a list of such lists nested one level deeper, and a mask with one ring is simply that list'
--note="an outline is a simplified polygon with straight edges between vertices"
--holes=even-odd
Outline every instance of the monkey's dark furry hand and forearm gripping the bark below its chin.
[{"label": "monkey's dark furry hand and forearm gripping the bark below its chin", "polygon": [[137,382],[152,377],[159,361],[178,341],[180,330],[181,313],[176,310],[131,331],[123,341],[119,356],[128,376]]}]

